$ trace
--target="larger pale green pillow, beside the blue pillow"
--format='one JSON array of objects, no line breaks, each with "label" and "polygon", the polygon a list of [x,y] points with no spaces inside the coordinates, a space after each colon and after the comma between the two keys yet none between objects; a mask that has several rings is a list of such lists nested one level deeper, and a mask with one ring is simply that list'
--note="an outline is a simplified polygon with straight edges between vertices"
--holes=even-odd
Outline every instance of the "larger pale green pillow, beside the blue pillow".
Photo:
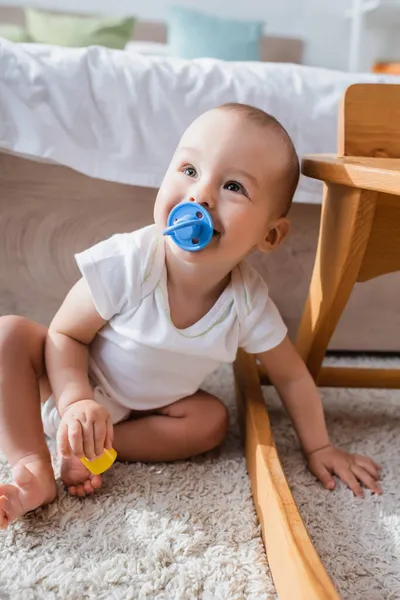
[{"label": "larger pale green pillow, beside the blue pillow", "polygon": [[87,17],[25,9],[28,36],[39,44],[107,46],[122,50],[132,39],[135,19]]}]

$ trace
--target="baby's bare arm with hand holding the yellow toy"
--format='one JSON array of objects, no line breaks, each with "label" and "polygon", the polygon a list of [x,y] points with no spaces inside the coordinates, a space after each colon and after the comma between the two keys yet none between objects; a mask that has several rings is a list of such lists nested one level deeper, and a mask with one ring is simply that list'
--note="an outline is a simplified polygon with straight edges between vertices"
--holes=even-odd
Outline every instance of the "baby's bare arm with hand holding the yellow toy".
[{"label": "baby's bare arm with hand holding the yellow toy", "polygon": [[69,446],[77,456],[89,459],[101,454],[104,447],[111,447],[108,413],[94,402],[88,377],[88,346],[105,323],[94,306],[86,281],[80,279],[48,330],[46,369],[62,417],[58,442],[66,456]]}]

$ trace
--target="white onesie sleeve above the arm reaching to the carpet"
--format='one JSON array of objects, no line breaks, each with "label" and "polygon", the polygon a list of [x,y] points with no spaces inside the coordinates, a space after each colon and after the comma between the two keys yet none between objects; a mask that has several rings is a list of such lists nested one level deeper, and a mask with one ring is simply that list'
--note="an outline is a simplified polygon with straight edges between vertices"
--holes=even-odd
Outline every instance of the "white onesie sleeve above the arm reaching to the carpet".
[{"label": "white onesie sleeve above the arm reaching to the carpet", "polygon": [[260,354],[278,346],[287,335],[287,327],[261,275],[248,265],[242,275],[246,316],[240,327],[239,346],[249,354]]}]

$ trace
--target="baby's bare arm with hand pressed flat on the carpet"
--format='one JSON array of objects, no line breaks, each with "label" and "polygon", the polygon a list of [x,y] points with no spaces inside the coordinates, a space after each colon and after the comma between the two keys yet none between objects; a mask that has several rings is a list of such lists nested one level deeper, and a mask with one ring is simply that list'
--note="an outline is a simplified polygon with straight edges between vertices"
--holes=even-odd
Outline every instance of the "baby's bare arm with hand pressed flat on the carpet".
[{"label": "baby's bare arm with hand pressed flat on the carpet", "polygon": [[289,338],[276,348],[259,354],[258,358],[289,413],[312,473],[328,489],[335,487],[334,473],[357,496],[363,495],[359,481],[381,493],[376,483],[378,465],[369,458],[350,454],[330,444],[317,386]]}]

